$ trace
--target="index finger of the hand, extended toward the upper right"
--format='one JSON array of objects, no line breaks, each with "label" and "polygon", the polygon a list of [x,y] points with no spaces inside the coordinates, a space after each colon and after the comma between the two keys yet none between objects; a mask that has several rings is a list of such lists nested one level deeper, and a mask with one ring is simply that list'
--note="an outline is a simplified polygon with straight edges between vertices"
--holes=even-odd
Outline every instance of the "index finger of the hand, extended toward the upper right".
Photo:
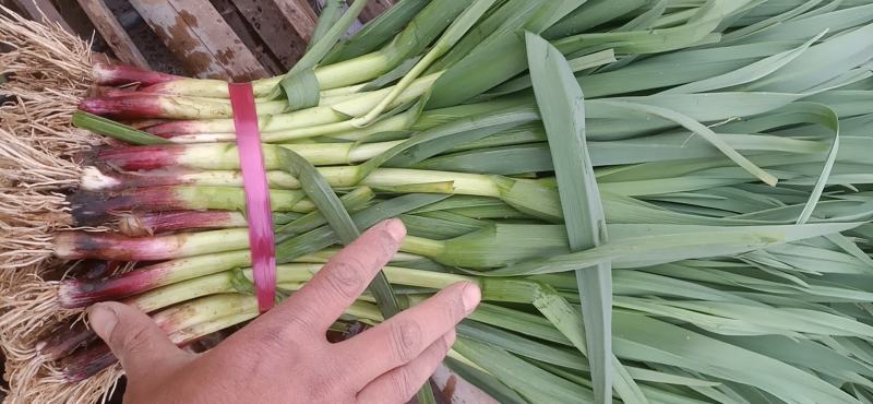
[{"label": "index finger of the hand, extended toward the upper right", "polygon": [[272,310],[272,317],[283,318],[284,323],[302,323],[307,330],[324,334],[391,261],[405,236],[406,227],[396,218],[371,227]]}]

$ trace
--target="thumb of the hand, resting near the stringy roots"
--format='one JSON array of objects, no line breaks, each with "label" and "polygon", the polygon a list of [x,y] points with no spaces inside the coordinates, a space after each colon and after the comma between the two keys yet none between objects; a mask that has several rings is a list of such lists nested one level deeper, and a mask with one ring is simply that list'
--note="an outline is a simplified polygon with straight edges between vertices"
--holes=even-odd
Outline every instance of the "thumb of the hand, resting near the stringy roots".
[{"label": "thumb of the hand, resting near the stringy roots", "polygon": [[88,309],[88,322],[129,376],[147,375],[184,355],[151,317],[128,305],[96,304]]}]

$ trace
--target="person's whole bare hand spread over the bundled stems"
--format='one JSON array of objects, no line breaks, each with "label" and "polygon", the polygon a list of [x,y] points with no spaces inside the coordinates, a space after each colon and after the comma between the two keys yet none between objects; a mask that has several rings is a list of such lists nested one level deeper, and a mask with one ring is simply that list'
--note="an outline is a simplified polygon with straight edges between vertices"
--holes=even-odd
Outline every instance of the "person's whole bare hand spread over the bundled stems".
[{"label": "person's whole bare hand spread over the bundled stems", "polygon": [[326,338],[405,236],[398,219],[373,226],[299,292],[203,354],[178,348],[148,316],[122,304],[94,305],[89,322],[124,368],[127,404],[405,403],[479,304],[476,285],[449,286],[352,338]]}]

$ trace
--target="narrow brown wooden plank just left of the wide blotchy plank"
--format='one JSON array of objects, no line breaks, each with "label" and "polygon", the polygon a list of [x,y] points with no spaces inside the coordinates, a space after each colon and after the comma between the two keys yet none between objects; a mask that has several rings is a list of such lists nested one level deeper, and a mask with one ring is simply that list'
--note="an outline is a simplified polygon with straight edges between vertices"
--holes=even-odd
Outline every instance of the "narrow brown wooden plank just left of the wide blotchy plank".
[{"label": "narrow brown wooden plank just left of the wide blotchy plank", "polygon": [[100,33],[106,44],[123,63],[137,68],[151,69],[148,61],[136,45],[133,44],[128,33],[121,27],[112,11],[103,0],[77,0],[79,5],[87,14],[94,27]]}]

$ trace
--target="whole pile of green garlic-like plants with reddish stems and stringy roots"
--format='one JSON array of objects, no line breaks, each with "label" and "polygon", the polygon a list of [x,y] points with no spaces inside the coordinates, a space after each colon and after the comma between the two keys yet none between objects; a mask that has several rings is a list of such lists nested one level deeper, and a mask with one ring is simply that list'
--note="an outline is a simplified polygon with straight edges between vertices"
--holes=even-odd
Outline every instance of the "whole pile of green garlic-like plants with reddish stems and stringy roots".
[{"label": "whole pile of green garlic-like plants with reddish stems and stringy roots", "polygon": [[[338,41],[362,5],[254,83],[283,290],[398,216],[393,292],[336,328],[476,282],[446,364],[501,402],[873,400],[872,1],[404,0]],[[226,83],[94,72],[72,122],[128,144],[10,202],[68,193],[3,245],[43,275],[0,283],[13,401],[119,377],[93,302],[180,345],[258,314]]]}]

